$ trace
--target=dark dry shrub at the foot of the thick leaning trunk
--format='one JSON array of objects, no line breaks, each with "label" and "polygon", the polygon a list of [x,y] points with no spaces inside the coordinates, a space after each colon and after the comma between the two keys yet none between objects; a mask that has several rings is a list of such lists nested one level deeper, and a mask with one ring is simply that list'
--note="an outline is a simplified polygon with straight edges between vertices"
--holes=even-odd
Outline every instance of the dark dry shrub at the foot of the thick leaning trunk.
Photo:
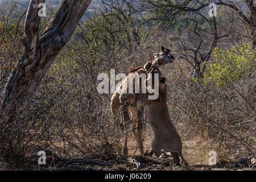
[{"label": "dark dry shrub at the foot of the thick leaning trunk", "polygon": [[12,113],[1,113],[1,168],[8,169],[11,165],[27,168],[32,156],[37,155],[40,150],[48,149],[47,136],[51,123],[38,122],[43,115],[35,110],[35,105],[35,102],[24,104],[17,106]]}]

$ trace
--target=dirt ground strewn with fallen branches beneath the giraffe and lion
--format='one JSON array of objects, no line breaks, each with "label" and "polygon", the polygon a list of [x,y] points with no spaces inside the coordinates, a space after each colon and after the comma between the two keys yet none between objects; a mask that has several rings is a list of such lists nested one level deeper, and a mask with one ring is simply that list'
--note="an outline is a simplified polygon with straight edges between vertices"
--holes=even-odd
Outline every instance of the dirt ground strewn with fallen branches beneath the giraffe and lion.
[{"label": "dirt ground strewn with fallen branches beneath the giraffe and lion", "polygon": [[[151,134],[151,135],[150,135]],[[151,151],[151,140],[152,133],[147,133],[144,137],[144,151]],[[122,145],[121,141],[121,145]],[[113,154],[112,159],[109,160],[98,160],[98,159],[61,159],[59,156],[54,156],[51,152],[47,154],[47,165],[36,165],[32,170],[82,170],[82,171],[97,171],[97,170],[139,170],[139,171],[181,171],[181,170],[192,170],[192,171],[227,171],[227,170],[246,170],[255,171],[255,162],[251,164],[249,160],[245,160],[239,164],[226,163],[217,159],[215,166],[209,166],[209,151],[205,149],[204,141],[200,139],[183,140],[183,156],[189,164],[189,168],[183,164],[176,166],[171,156],[165,156],[163,158],[156,158],[154,155],[141,156],[135,139],[132,134],[128,137],[128,156]],[[209,148],[210,150],[210,148]],[[255,158],[255,156],[254,156]],[[249,164],[250,163],[250,164]],[[38,156],[35,156],[34,164],[38,164]]]}]

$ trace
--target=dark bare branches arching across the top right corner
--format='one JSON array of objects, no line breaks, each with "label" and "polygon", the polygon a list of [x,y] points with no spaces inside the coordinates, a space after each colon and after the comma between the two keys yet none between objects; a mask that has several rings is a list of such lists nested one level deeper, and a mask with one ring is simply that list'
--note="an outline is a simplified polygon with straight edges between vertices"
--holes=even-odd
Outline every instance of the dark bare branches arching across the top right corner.
[{"label": "dark bare branches arching across the top right corner", "polygon": [[172,22],[181,18],[181,16],[189,16],[190,13],[200,12],[201,10],[208,9],[209,3],[215,3],[216,5],[225,7],[232,10],[232,14],[236,16],[236,19],[240,19],[246,26],[249,27],[253,47],[256,46],[256,6],[254,0],[242,0],[242,1],[223,1],[223,0],[211,0],[211,1],[170,1],[170,0],[146,0],[148,9],[158,14],[162,25],[171,26]]}]

